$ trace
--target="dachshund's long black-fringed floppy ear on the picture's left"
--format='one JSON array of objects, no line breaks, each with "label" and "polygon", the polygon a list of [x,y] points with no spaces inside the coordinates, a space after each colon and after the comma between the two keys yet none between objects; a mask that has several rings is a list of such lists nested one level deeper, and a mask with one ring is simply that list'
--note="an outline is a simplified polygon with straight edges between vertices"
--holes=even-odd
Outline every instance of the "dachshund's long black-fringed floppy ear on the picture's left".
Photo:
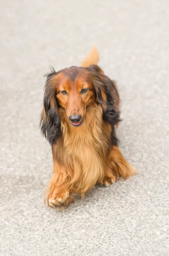
[{"label": "dachshund's long black-fringed floppy ear on the picture's left", "polygon": [[40,119],[42,134],[51,145],[56,143],[56,140],[61,134],[60,116],[56,102],[56,84],[54,84],[53,81],[56,75],[57,73],[54,69],[51,70],[51,73],[46,75],[43,109]]}]

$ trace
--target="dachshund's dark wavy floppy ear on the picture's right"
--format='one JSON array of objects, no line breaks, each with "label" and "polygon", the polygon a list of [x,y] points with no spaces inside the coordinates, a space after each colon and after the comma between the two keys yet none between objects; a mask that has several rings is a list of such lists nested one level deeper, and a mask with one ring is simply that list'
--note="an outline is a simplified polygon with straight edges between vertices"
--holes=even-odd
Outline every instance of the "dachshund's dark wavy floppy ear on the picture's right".
[{"label": "dachshund's dark wavy floppy ear on the picture's right", "polygon": [[120,111],[114,106],[113,95],[109,88],[100,78],[100,76],[93,72],[92,83],[96,94],[96,103],[101,105],[103,109],[103,119],[110,125],[116,125],[120,122]]}]

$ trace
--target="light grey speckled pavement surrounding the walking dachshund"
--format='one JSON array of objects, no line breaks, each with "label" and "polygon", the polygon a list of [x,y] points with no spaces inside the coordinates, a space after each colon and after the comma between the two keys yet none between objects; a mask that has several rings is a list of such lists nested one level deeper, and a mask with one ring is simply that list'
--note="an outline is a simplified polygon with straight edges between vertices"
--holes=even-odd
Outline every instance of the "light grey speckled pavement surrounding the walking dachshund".
[{"label": "light grey speckled pavement surrounding the walking dachshund", "polygon": [[[169,255],[169,1],[1,1],[0,256]],[[44,206],[43,74],[92,45],[118,81],[120,148],[140,173],[64,212]]]}]

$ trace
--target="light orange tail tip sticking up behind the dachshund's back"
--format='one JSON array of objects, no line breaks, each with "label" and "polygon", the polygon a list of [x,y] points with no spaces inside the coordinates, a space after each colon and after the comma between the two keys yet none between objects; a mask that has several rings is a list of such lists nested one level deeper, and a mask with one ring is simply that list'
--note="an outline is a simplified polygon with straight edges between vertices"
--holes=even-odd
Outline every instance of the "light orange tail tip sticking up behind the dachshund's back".
[{"label": "light orange tail tip sticking up behind the dachshund's back", "polygon": [[90,65],[97,65],[99,62],[99,51],[93,46],[91,52],[84,58],[81,63],[82,67],[89,67]]}]

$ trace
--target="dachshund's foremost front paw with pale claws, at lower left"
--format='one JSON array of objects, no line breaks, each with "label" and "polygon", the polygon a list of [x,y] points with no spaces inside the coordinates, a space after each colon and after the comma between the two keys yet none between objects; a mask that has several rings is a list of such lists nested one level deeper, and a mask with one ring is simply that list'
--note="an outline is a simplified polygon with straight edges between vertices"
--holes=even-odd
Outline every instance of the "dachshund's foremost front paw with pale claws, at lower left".
[{"label": "dachshund's foremost front paw with pale claws, at lower left", "polygon": [[48,200],[48,204],[51,207],[64,205],[66,201],[68,201],[69,192],[57,192],[52,195],[52,197]]}]

